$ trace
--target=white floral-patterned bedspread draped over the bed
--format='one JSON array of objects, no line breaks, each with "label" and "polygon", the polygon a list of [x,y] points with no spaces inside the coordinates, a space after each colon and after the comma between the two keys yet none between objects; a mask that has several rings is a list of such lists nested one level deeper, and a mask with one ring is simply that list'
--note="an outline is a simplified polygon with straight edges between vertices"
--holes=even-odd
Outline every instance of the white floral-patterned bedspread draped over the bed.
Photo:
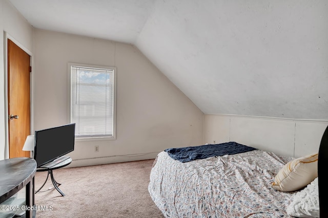
[{"label": "white floral-patterned bedspread draped over the bed", "polygon": [[292,159],[253,150],[181,163],[162,151],[148,190],[166,217],[290,217],[285,210],[295,192],[271,184]]}]

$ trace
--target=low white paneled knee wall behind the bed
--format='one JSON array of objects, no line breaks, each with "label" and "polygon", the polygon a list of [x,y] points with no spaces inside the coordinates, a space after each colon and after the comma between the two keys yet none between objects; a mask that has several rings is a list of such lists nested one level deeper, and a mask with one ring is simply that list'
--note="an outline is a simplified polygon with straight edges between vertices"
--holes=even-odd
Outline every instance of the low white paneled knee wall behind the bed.
[{"label": "low white paneled knee wall behind the bed", "polygon": [[327,125],[328,120],[205,115],[204,143],[235,141],[297,158],[318,152]]}]

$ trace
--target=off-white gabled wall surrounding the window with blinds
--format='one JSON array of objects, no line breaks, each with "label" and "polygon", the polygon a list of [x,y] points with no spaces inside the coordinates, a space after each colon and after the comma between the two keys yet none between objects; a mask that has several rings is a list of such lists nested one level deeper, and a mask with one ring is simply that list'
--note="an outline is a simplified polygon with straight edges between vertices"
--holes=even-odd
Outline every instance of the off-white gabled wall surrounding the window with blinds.
[{"label": "off-white gabled wall surrounding the window with blinds", "polygon": [[71,167],[150,159],[202,143],[203,113],[132,45],[38,29],[34,36],[35,130],[68,122],[68,62],[117,68],[116,140],[76,140]]}]

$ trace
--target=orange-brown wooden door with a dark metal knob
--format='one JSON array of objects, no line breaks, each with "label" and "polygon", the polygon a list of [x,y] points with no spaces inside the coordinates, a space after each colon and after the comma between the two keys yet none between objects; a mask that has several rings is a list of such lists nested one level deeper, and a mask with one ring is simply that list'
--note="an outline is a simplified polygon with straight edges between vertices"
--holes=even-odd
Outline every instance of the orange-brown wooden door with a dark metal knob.
[{"label": "orange-brown wooden door with a dark metal knob", "polygon": [[23,151],[30,135],[30,56],[8,39],[9,158],[30,157]]}]

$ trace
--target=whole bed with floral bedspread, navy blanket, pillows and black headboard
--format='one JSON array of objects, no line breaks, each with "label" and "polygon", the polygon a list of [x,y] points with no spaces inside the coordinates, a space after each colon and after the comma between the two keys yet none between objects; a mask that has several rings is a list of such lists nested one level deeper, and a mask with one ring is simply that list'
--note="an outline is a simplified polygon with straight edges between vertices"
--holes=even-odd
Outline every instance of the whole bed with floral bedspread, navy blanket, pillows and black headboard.
[{"label": "whole bed with floral bedspread, navy blanket, pillows and black headboard", "polygon": [[[301,158],[252,147],[209,157],[166,149],[153,163],[148,190],[165,217],[328,217],[327,188],[320,187],[327,184],[327,138],[328,127],[319,152]],[[211,145],[186,150],[204,146]]]}]

